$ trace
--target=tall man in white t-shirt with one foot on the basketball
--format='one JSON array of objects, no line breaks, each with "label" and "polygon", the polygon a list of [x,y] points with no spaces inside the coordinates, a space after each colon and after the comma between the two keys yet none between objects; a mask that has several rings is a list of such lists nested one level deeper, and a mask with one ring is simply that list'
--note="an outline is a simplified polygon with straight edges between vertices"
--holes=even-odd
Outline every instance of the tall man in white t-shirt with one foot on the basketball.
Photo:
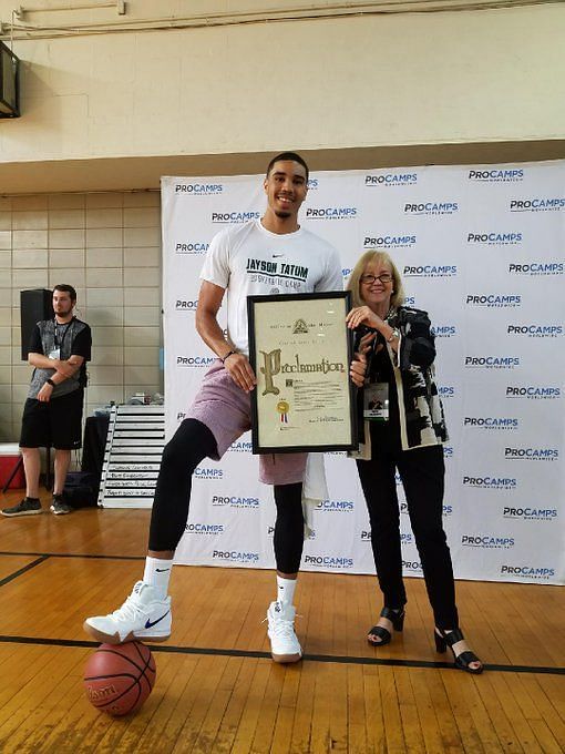
[{"label": "tall man in white t-shirt with one foot on the basketball", "polygon": [[[260,221],[218,233],[201,274],[196,312],[199,336],[218,356],[206,374],[187,418],[163,454],[143,581],[110,615],[86,619],[99,641],[164,641],[171,634],[167,597],[173,557],[188,517],[192,473],[206,457],[222,458],[250,428],[249,393],[256,385],[247,358],[247,296],[341,291],[337,251],[301,228],[298,211],[308,191],[308,166],[294,152],[271,160],[264,182],[267,210]],[[227,296],[227,338],[217,313]],[[260,456],[259,478],[274,485],[277,599],[269,605],[268,635],[276,662],[301,658],[292,598],[304,543],[301,507],[306,454]]]}]

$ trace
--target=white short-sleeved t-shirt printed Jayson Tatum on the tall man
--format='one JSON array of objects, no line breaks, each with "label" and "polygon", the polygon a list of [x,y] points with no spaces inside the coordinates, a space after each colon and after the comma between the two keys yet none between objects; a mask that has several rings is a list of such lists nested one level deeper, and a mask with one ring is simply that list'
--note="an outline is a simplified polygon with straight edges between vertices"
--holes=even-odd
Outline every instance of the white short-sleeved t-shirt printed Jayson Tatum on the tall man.
[{"label": "white short-sleeved t-shirt printed Jayson Tatum on the tall man", "polygon": [[331,244],[305,228],[271,233],[258,220],[214,236],[201,279],[226,288],[227,332],[244,354],[247,296],[343,289],[339,255]]}]

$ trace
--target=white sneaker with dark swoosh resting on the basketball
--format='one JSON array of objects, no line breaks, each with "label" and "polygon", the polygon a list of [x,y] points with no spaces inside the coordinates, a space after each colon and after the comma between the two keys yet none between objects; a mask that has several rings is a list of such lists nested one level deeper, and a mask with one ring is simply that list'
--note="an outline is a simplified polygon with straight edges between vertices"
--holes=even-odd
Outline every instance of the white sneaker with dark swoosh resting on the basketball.
[{"label": "white sneaker with dark swoosh resting on the basketball", "polygon": [[123,644],[140,639],[166,641],[171,635],[171,598],[164,600],[155,587],[137,581],[119,610],[110,615],[86,618],[84,630],[96,641]]}]

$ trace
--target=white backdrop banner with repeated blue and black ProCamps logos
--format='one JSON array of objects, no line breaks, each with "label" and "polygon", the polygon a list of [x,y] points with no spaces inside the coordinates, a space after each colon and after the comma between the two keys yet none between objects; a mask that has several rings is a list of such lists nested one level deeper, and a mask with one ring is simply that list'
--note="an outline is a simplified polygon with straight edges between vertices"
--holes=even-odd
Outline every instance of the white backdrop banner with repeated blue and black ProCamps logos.
[{"label": "white backdrop banner with repeated blue and black ProCamps logos", "polygon": [[[214,355],[196,334],[213,235],[259,217],[263,176],[163,177],[166,431]],[[347,278],[387,249],[407,303],[430,313],[450,442],[444,523],[455,575],[565,582],[565,162],[314,173],[305,226],[340,252]],[[222,323],[220,313],[220,323]],[[302,568],[374,573],[355,461],[326,457]],[[177,562],[274,568],[275,505],[245,435],[196,470]],[[398,480],[407,575],[421,575]]]}]

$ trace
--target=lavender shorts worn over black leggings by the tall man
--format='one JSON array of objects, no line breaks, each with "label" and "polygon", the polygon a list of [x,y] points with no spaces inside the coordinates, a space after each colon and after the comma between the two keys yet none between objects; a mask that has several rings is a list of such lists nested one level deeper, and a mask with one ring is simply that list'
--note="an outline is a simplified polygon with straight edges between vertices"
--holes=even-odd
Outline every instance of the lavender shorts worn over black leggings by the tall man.
[{"label": "lavender shorts worn over black leggings by the tall man", "polygon": [[[232,442],[251,428],[251,399],[217,361],[204,376],[186,418],[208,427],[218,448],[214,460],[219,460]],[[307,456],[306,452],[259,456],[259,480],[266,485],[304,481]]]}]

